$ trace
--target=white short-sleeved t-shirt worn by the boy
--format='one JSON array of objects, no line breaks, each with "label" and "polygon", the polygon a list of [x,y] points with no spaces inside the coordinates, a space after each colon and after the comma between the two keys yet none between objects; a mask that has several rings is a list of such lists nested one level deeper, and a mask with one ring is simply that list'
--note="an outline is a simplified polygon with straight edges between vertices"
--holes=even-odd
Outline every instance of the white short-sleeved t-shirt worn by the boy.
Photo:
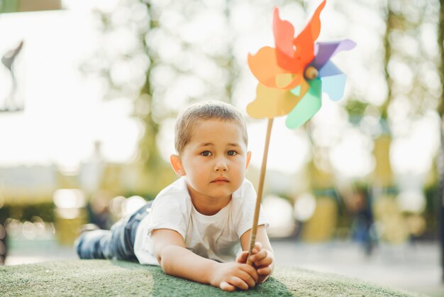
[{"label": "white short-sleeved t-shirt worn by the boy", "polygon": [[[152,251],[151,231],[172,229],[184,237],[185,247],[207,259],[234,261],[242,251],[240,237],[252,227],[256,192],[245,179],[231,202],[216,215],[202,215],[192,204],[187,180],[182,177],[163,189],[152,202],[150,214],[138,226],[134,253],[140,264],[159,265]],[[258,225],[268,227],[260,210]]]}]

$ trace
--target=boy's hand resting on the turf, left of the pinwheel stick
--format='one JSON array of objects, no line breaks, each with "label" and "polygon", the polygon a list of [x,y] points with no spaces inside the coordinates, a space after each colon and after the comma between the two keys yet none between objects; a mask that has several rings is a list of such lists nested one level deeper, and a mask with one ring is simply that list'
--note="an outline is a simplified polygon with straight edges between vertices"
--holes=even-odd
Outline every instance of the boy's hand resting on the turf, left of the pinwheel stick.
[{"label": "boy's hand resting on the turf, left of the pinwheel stick", "polygon": [[223,291],[247,290],[256,285],[259,276],[256,270],[241,263],[217,263],[211,272],[211,285]]}]

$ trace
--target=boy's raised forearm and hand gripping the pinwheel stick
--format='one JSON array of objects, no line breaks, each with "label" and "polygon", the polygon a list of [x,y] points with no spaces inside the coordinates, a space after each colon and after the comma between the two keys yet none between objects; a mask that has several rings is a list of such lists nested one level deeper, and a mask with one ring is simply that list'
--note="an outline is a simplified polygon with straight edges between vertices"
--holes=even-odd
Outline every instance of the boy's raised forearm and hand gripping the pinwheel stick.
[{"label": "boy's raised forearm and hand gripping the pinwheel stick", "polygon": [[[250,234],[251,229],[242,234],[240,237],[240,245],[242,246],[243,254],[241,258],[245,257],[245,261],[247,260],[248,249],[250,249]],[[270,239],[268,239],[267,229],[265,225],[257,226],[256,233],[256,242],[260,244],[256,244],[253,248],[252,262],[255,264],[257,268],[257,273],[259,274],[259,284],[262,284],[266,281],[274,270],[274,252],[272,249],[272,244],[270,243]],[[243,259],[241,260],[243,262]]]}]

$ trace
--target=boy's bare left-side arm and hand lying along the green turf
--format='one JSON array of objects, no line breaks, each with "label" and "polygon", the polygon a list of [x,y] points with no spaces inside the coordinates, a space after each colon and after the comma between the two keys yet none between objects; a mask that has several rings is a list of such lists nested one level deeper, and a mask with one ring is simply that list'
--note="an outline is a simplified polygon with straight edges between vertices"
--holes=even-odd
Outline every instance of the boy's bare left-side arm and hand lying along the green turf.
[{"label": "boy's bare left-side arm and hand lying along the green turf", "polygon": [[240,263],[218,263],[185,248],[182,235],[172,229],[151,232],[154,254],[166,274],[211,284],[226,291],[246,290],[255,286],[257,272]]}]

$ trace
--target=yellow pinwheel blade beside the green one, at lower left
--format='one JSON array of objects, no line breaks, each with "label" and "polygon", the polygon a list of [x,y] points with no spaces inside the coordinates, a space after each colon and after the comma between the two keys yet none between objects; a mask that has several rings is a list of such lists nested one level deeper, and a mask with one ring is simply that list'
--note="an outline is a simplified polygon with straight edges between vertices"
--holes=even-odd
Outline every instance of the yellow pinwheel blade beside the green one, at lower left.
[{"label": "yellow pinwheel blade beside the green one, at lower left", "polygon": [[289,90],[275,89],[259,83],[256,88],[256,99],[248,104],[247,112],[255,119],[284,116],[294,109],[308,90],[309,84],[305,80],[302,80],[298,96]]}]

